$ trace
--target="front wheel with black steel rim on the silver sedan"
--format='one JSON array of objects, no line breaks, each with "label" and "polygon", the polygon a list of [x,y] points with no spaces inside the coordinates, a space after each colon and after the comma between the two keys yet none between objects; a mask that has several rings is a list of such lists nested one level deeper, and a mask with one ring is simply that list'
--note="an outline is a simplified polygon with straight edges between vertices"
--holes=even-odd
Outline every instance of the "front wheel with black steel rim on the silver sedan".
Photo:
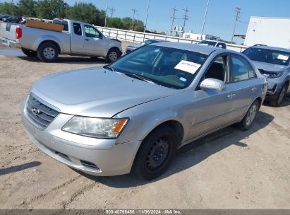
[{"label": "front wheel with black steel rim on the silver sedan", "polygon": [[158,178],[174,158],[178,140],[176,132],[170,127],[157,127],[143,140],[135,156],[132,173],[145,180]]}]

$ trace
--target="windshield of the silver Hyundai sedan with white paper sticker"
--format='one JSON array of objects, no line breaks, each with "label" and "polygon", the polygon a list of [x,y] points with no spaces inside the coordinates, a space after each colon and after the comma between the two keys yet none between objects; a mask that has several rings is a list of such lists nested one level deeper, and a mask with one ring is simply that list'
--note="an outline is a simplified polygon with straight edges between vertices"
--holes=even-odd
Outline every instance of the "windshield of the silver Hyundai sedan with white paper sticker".
[{"label": "windshield of the silver Hyundai sedan with white paper sticker", "polygon": [[112,63],[114,71],[144,77],[169,88],[186,88],[207,58],[206,54],[148,45]]}]

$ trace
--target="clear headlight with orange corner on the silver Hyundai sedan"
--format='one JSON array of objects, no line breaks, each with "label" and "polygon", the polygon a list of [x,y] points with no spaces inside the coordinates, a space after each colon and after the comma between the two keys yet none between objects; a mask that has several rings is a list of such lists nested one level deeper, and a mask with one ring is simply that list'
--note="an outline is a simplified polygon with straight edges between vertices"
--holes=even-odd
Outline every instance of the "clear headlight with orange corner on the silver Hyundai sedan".
[{"label": "clear headlight with orange corner on the silver Hyundai sedan", "polygon": [[83,136],[111,139],[116,138],[126,126],[128,119],[102,119],[93,117],[72,117],[62,130]]}]

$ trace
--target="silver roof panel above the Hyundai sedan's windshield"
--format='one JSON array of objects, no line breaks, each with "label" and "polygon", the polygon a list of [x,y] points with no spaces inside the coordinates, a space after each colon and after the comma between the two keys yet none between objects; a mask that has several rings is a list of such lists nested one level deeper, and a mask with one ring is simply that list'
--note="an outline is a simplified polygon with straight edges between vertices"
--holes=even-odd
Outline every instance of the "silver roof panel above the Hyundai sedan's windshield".
[{"label": "silver roof panel above the Hyundai sedan's windshield", "polygon": [[220,50],[217,47],[205,46],[205,45],[196,45],[185,42],[157,42],[150,45],[160,46],[160,47],[169,47],[179,50],[188,50],[191,52],[199,52],[201,54],[210,54],[215,50]]}]

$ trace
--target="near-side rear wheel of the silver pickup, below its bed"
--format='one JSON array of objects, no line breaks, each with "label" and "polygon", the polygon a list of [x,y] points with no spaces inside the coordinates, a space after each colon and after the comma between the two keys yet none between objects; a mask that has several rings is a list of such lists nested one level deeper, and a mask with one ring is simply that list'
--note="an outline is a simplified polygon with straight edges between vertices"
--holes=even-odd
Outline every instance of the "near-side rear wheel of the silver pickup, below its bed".
[{"label": "near-side rear wheel of the silver pickup, below its bed", "polygon": [[55,62],[57,57],[59,57],[59,50],[53,43],[46,42],[38,47],[37,57],[42,62]]}]

